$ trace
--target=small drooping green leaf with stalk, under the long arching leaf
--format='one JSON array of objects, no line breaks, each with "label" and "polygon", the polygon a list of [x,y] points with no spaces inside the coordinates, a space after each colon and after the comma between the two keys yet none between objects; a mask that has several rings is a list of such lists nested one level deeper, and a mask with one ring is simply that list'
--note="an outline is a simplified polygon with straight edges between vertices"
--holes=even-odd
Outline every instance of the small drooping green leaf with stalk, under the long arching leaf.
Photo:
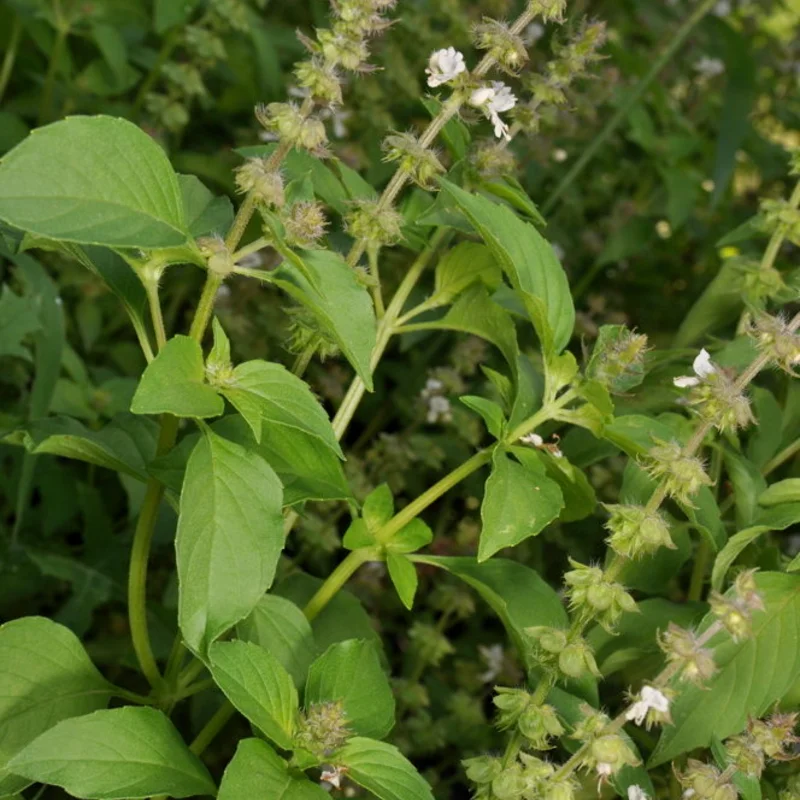
[{"label": "small drooping green leaf with stalk, under the long arching leaf", "polygon": [[519,345],[514,323],[483,286],[465,290],[441,319],[405,325],[403,330],[450,330],[480,336],[491,342],[516,372]]}]

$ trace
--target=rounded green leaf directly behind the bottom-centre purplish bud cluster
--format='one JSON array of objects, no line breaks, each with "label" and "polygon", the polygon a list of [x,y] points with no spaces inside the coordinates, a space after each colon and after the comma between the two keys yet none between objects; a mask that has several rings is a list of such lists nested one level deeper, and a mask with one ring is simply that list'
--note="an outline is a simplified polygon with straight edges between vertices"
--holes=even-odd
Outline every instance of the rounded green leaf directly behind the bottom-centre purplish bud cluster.
[{"label": "rounded green leaf directly behind the bottom-centre purplish bud cluster", "polygon": [[350,639],[331,645],[312,665],[305,705],[341,701],[348,728],[380,739],[394,725],[394,696],[374,642]]}]

